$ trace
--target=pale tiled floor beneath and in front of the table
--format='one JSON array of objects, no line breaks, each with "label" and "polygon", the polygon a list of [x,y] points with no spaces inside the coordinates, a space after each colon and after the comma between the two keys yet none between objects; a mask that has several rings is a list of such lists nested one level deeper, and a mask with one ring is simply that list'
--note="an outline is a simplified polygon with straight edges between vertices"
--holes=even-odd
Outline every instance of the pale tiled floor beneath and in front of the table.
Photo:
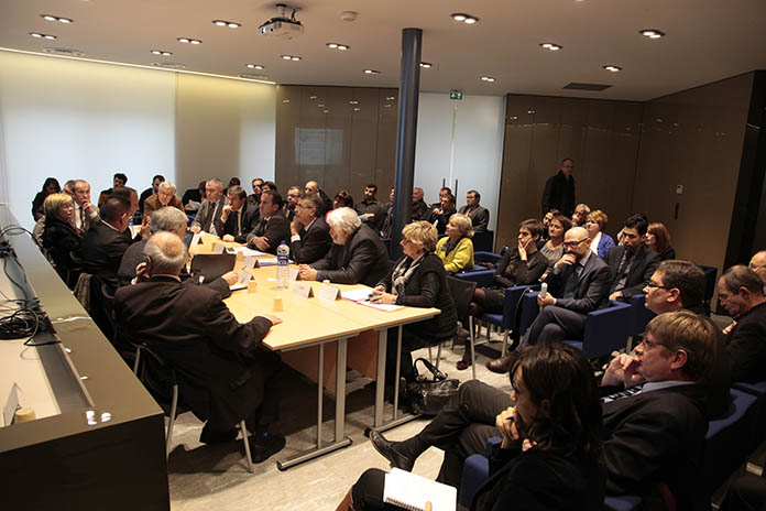
[{"label": "pale tiled floor beneath and in front of the table", "polygon": [[[500,337],[495,334],[493,339]],[[500,349],[500,343],[491,347]],[[507,376],[489,372],[484,368],[489,358],[481,351],[493,354],[490,346],[480,348],[477,378],[510,392]],[[471,370],[458,371],[455,368],[462,352],[462,347],[456,347],[452,351],[446,345],[441,351],[440,369],[451,378],[466,381],[471,378]],[[415,355],[427,357],[428,350]],[[346,434],[353,444],[286,471],[276,468],[276,458],[308,448],[316,435],[316,387],[298,373],[285,371],[280,381],[284,398],[277,428],[287,434],[287,446],[278,455],[256,465],[255,474],[247,471],[241,441],[203,445],[198,442],[201,423],[190,413],[178,417],[168,460],[173,511],[335,510],[362,471],[371,467],[389,468],[385,459],[364,436],[364,428],[372,424],[374,389],[365,388],[369,380],[353,371],[349,372],[347,379]],[[327,439],[332,435],[333,413],[335,402],[326,398],[325,416],[329,422],[325,423],[322,436]],[[386,413],[386,416],[391,416],[391,406]],[[392,439],[407,438],[426,423],[426,420],[416,420],[385,434]],[[441,450],[430,448],[418,458],[414,471],[435,478],[442,456]]]}]

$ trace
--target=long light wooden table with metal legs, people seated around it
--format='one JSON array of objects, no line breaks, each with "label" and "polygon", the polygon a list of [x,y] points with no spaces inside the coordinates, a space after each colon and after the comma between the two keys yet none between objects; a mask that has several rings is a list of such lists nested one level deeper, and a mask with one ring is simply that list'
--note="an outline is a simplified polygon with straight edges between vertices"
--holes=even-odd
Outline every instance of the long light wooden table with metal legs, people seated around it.
[{"label": "long light wooden table with metal legs, people seated around it", "polygon": [[[210,235],[203,235],[201,243],[192,247],[192,253],[212,251],[215,243],[227,248],[241,247],[239,243],[223,242]],[[265,256],[273,258],[273,256]],[[240,270],[242,261],[237,261]],[[389,328],[398,329],[397,354],[402,349],[402,326],[416,323],[439,314],[438,308],[403,307],[397,311],[379,311],[348,300],[324,301],[318,297],[321,283],[306,282],[313,289],[315,297],[302,297],[289,289],[276,287],[276,267],[267,265],[249,270],[258,285],[255,292],[236,291],[225,302],[234,317],[248,322],[254,316],[267,313],[278,316],[283,323],[274,325],[263,339],[264,346],[280,351],[283,360],[304,374],[317,381],[317,441],[316,446],[298,453],[284,460],[277,460],[280,469],[286,469],[299,463],[346,447],[351,439],[344,436],[346,417],[346,368],[350,366],[377,381],[373,427],[385,430],[403,422],[397,417],[400,358],[396,358],[396,380],[394,412],[392,421],[384,423],[385,359]],[[360,285],[337,285],[341,291],[357,289]],[[274,312],[275,298],[282,300],[282,311]],[[377,335],[375,335],[375,333]],[[376,339],[375,339],[376,337]],[[348,352],[348,341],[352,340],[352,350]],[[335,351],[325,357],[325,350]],[[335,363],[332,357],[335,355]],[[316,357],[316,370],[310,359]],[[373,365],[374,362],[374,365]],[[322,445],[322,389],[336,394],[335,438]]]}]

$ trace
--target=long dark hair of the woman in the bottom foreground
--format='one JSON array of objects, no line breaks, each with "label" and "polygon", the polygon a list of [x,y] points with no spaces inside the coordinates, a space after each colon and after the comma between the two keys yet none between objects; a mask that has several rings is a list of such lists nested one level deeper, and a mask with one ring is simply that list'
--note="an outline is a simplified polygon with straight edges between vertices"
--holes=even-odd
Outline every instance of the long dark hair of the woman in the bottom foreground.
[{"label": "long dark hair of the woman in the bottom foreground", "polygon": [[528,424],[528,437],[544,450],[562,450],[565,456],[599,464],[602,460],[602,412],[599,390],[590,362],[577,348],[562,343],[530,346],[511,370],[517,370],[537,406],[547,402]]}]

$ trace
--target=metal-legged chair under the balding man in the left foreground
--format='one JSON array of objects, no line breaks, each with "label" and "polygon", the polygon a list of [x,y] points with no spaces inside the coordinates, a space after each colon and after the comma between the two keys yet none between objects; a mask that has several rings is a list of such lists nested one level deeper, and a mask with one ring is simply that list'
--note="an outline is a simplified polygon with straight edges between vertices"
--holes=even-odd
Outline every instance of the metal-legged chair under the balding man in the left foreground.
[{"label": "metal-legged chair under the balding man in the left foreground", "polygon": [[[171,454],[171,443],[173,441],[173,426],[175,425],[175,420],[182,413],[188,412],[188,410],[182,404],[178,395],[178,380],[176,377],[176,371],[171,367],[165,360],[160,357],[155,351],[153,351],[146,344],[133,344],[135,346],[135,360],[133,361],[133,373],[141,380],[146,390],[152,398],[157,402],[160,407],[162,407],[165,415],[169,418],[167,423],[167,431],[165,433],[165,456]],[[144,361],[141,363],[141,356],[147,358],[150,363],[154,365],[155,370],[151,371],[149,369],[149,363]],[[162,381],[153,381],[152,376],[156,380],[157,374]],[[161,389],[172,388],[171,402],[167,403],[165,396],[162,395]],[[248,463],[248,471],[253,474],[253,461],[250,457],[250,443],[248,442],[248,427],[243,421],[240,421],[240,431],[242,433],[242,442],[244,443],[244,457]]]}]

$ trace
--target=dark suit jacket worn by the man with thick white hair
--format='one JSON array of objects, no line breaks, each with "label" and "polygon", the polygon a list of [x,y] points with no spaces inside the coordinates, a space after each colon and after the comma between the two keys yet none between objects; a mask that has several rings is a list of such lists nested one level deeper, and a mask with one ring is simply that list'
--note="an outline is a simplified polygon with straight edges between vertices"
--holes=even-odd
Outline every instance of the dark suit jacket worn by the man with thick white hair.
[{"label": "dark suit jacket worn by the man with thick white hair", "polygon": [[389,252],[381,237],[362,224],[346,244],[333,243],[311,268],[318,270],[318,281],[373,286],[389,272]]}]

